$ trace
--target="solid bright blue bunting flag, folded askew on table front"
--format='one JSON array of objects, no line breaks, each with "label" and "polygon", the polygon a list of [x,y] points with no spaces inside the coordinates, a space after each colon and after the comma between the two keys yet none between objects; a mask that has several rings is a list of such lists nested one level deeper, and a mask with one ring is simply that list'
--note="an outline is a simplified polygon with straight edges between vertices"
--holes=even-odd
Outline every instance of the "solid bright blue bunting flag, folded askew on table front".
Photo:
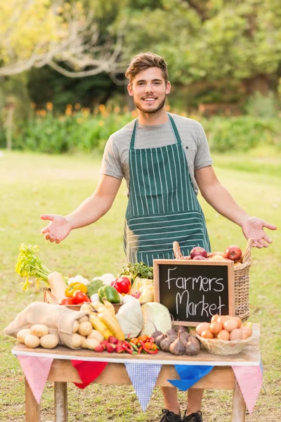
[{"label": "solid bright blue bunting flag, folded askew on table front", "polygon": [[180,380],[168,380],[169,383],[179,390],[186,391],[192,387],[203,376],[207,375],[214,366],[201,366],[201,365],[174,365]]}]

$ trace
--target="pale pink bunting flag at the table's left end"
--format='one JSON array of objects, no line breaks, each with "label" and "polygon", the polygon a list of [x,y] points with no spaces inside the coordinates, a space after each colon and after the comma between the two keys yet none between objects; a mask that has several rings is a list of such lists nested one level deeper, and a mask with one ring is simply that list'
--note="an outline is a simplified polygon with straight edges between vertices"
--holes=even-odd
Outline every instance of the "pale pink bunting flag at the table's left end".
[{"label": "pale pink bunting flag at the table's left end", "polygon": [[46,384],[48,373],[53,363],[52,357],[35,357],[18,354],[18,360],[25,378],[38,404],[41,402],[42,392]]}]

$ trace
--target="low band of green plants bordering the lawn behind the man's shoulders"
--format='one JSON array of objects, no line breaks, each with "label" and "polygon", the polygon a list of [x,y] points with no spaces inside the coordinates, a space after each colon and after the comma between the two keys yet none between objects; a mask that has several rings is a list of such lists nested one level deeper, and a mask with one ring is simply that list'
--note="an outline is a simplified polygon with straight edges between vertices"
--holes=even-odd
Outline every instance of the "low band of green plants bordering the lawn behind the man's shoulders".
[{"label": "low band of green plants bordering the lawn behind the man's shoulders", "polygon": [[[46,113],[46,110],[41,110],[43,112]],[[90,115],[87,109],[73,113],[67,108],[66,113],[71,115],[55,117],[48,112],[30,122],[18,122],[13,148],[50,154],[103,151],[110,135],[135,117],[129,112],[120,112],[118,109],[118,113],[110,113],[105,106],[100,106],[98,113]],[[281,124],[278,118],[190,117],[203,124],[211,151],[248,151],[258,144],[269,146],[280,143]],[[0,147],[4,145],[0,144]]]}]

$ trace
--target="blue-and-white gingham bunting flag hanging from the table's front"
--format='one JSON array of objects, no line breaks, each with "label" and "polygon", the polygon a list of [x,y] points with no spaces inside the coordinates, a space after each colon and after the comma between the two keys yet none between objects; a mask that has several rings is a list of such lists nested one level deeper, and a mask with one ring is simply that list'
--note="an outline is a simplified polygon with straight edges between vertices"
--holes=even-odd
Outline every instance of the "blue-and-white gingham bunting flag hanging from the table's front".
[{"label": "blue-and-white gingham bunting flag hanging from the table's front", "polygon": [[133,388],[135,389],[138,402],[143,411],[148,407],[150,396],[161,371],[162,364],[133,364],[125,363]]}]

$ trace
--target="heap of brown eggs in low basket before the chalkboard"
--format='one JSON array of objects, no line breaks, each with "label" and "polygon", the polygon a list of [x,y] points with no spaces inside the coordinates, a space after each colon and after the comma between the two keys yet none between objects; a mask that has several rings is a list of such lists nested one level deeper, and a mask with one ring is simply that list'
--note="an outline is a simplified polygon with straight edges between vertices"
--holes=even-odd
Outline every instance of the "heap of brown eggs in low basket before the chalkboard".
[{"label": "heap of brown eggs in low basket before the chalkboard", "polygon": [[211,322],[202,322],[196,327],[197,335],[202,338],[218,340],[247,340],[251,337],[251,323],[242,321],[237,316],[214,315]]}]

